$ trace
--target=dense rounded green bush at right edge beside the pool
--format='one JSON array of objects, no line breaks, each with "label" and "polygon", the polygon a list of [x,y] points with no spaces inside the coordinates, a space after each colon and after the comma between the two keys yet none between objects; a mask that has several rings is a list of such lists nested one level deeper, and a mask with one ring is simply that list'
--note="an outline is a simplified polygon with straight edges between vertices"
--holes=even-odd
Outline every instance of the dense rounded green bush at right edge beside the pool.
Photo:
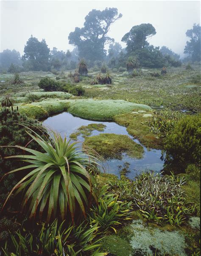
[{"label": "dense rounded green bush at right edge beside the pool", "polygon": [[165,169],[184,172],[189,164],[196,164],[201,156],[201,118],[187,116],[176,122],[165,144]]}]

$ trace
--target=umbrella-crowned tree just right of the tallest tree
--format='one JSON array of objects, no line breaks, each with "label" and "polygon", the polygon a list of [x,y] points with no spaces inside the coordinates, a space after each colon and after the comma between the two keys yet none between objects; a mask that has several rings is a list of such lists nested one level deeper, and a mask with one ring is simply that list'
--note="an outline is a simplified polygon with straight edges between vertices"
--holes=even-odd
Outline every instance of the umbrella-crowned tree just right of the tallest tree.
[{"label": "umbrella-crowned tree just right of the tallest tree", "polygon": [[126,43],[128,53],[145,48],[149,43],[148,38],[156,34],[155,28],[150,23],[143,23],[133,26],[131,30],[122,37],[122,42]]}]

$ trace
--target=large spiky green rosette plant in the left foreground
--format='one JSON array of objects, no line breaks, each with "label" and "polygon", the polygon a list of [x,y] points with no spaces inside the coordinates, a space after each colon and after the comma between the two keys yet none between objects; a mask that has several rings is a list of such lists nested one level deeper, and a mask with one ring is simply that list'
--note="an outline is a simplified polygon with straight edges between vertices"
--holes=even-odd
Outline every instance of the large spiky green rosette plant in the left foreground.
[{"label": "large spiky green rosette plant in the left foreground", "polygon": [[98,164],[95,154],[89,156],[78,150],[77,142],[70,144],[66,137],[62,139],[54,131],[51,132],[52,139],[43,139],[36,132],[31,130],[31,134],[28,130],[31,129],[27,128],[27,133],[44,152],[12,146],[22,150],[23,154],[5,158],[18,158],[28,164],[5,174],[25,171],[25,176],[12,188],[3,207],[11,194],[17,196],[21,193],[20,209],[26,211],[30,219],[45,218],[50,222],[50,219],[60,216],[62,220],[70,217],[74,222],[75,213],[79,217],[86,216],[92,198],[96,200],[90,174]]}]

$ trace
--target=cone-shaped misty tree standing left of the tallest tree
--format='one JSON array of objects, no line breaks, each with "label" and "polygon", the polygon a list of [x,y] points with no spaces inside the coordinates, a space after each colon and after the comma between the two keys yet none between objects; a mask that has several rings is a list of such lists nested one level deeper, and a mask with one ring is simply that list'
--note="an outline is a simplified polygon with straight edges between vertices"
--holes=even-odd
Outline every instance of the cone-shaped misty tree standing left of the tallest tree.
[{"label": "cone-shaped misty tree standing left of the tallest tree", "polygon": [[25,45],[24,53],[22,60],[29,61],[34,71],[48,70],[50,48],[47,47],[45,39],[39,42],[36,37],[31,35]]}]

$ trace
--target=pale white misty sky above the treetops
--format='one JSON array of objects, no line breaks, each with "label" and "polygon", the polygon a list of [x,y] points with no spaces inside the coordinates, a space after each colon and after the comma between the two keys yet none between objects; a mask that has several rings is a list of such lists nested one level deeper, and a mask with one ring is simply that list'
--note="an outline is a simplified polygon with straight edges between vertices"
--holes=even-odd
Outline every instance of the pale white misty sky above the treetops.
[{"label": "pale white misty sky above the treetops", "polygon": [[72,50],[69,33],[83,26],[89,11],[106,7],[116,7],[123,14],[108,33],[123,47],[121,38],[132,26],[151,23],[156,35],[149,43],[168,46],[182,56],[187,29],[200,23],[200,1],[1,1],[0,51],[15,48],[23,54],[31,34],[45,38],[50,49]]}]

